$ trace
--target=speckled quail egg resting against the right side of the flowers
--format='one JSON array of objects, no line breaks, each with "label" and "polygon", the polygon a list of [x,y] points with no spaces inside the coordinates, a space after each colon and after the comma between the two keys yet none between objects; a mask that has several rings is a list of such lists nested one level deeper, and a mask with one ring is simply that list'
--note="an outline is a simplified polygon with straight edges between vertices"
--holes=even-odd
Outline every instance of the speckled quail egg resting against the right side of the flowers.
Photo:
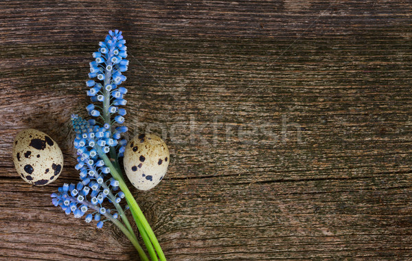
[{"label": "speckled quail egg resting against the right side of the flowers", "polygon": [[169,160],[169,149],[163,139],[154,134],[141,134],[126,146],[124,170],[138,190],[150,190],[165,176]]}]

